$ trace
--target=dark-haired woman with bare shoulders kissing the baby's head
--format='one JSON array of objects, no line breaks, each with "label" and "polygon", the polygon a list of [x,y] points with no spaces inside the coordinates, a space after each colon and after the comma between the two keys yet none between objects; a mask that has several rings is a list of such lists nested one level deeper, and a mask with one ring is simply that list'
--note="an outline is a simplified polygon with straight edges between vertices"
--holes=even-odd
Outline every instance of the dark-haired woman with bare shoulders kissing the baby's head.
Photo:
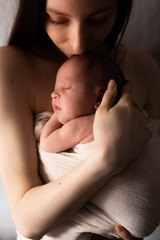
[{"label": "dark-haired woman with bare shoulders kissing the baby's head", "polygon": [[[150,116],[160,118],[157,63],[117,42],[131,6],[132,0],[20,2],[9,40],[12,46],[0,49],[0,173],[14,222],[25,237],[40,239],[63,224],[141,151],[150,132],[131,98]],[[110,82],[95,117],[94,151],[61,179],[43,184],[34,115],[52,110],[50,94],[62,62],[87,51],[115,58],[133,91],[127,84],[111,108],[116,85]],[[116,230],[124,240],[134,239],[124,228]]]}]

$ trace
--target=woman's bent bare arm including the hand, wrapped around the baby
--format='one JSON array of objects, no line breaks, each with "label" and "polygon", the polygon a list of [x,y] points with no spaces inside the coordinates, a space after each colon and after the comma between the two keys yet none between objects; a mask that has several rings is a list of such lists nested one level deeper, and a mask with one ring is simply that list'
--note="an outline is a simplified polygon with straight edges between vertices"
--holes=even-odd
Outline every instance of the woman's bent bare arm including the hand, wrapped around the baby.
[{"label": "woman's bent bare arm including the hand, wrapped around the baby", "polygon": [[[110,111],[116,89],[107,91],[95,121],[94,151],[64,177],[43,185],[38,175],[31,88],[27,81],[18,79],[18,73],[13,67],[17,55],[13,54],[12,61],[8,61],[6,53],[2,52],[0,51],[0,174],[17,229],[25,237],[39,239],[76,213],[113,174],[126,166],[126,159],[131,159],[133,151],[139,150],[137,146],[130,146],[128,139],[133,139],[141,132],[135,142],[142,146],[146,130],[142,128],[138,112],[135,113],[131,104],[125,100],[125,94],[119,107],[117,105]],[[133,123],[134,128],[131,128]],[[122,139],[123,125],[129,131],[126,131]],[[117,134],[115,126],[117,129],[119,126],[122,131],[119,129]],[[111,131],[112,128],[114,132]],[[106,137],[107,131],[112,132],[111,141]],[[122,158],[119,158],[117,152],[124,146],[127,152],[124,151]]]}]

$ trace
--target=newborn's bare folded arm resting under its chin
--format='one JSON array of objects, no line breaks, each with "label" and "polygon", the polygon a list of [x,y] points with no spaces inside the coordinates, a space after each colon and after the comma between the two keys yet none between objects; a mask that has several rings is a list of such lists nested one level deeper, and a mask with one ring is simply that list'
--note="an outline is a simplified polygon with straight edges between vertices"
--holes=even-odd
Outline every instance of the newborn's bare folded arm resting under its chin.
[{"label": "newborn's bare folded arm resting under its chin", "polygon": [[53,114],[42,130],[40,146],[46,152],[60,152],[84,139],[93,139],[93,121],[94,114],[91,114],[61,125]]}]

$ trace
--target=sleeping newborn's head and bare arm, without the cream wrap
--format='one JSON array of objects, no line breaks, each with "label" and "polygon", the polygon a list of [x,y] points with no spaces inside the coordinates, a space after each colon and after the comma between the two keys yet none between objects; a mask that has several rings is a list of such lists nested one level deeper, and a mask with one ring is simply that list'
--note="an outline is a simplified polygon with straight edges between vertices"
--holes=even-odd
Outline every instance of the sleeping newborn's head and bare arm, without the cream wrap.
[{"label": "sleeping newborn's head and bare arm, without the cream wrap", "polygon": [[51,95],[54,114],[41,134],[44,151],[61,152],[94,140],[94,113],[110,79],[116,79],[120,94],[126,82],[123,73],[103,55],[74,56],[61,66]]}]

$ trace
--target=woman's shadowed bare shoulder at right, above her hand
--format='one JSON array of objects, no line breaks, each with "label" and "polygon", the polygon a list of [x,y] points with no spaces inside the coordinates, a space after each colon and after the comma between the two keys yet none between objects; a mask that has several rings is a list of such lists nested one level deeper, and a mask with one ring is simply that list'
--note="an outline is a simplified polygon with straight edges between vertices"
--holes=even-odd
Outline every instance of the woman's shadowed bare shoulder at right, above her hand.
[{"label": "woman's shadowed bare shoulder at right, above her hand", "polygon": [[136,97],[146,95],[146,109],[152,117],[160,118],[160,65],[148,53],[124,47],[121,68],[136,89]]}]

